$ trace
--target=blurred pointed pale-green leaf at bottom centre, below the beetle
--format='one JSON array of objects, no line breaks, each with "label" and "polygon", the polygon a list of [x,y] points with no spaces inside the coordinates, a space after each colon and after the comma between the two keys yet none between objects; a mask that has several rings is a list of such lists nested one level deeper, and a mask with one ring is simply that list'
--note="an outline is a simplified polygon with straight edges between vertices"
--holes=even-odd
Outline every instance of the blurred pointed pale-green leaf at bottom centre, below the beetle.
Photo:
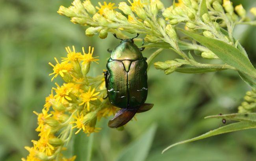
[{"label": "blurred pointed pale-green leaf at bottom centre, below the beetle", "polygon": [[154,139],[157,125],[152,125],[139,139],[122,150],[117,161],[144,161]]}]

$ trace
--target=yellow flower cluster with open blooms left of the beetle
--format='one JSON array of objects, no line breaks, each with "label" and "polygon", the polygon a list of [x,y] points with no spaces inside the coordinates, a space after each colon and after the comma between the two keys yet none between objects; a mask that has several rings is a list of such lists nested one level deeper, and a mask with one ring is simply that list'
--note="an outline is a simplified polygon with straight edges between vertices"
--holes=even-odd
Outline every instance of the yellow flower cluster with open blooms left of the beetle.
[{"label": "yellow flower cluster with open blooms left of the beetle", "polygon": [[[42,112],[34,111],[40,139],[32,140],[33,147],[25,147],[30,154],[22,161],[54,160],[57,157],[60,161],[74,161],[76,156],[67,159],[60,155],[73,129],[78,129],[75,134],[82,130],[87,136],[99,132],[100,128],[95,127],[97,120],[115,115],[117,111],[108,99],[103,99],[106,97],[104,76],[87,76],[91,62],[98,63],[97,57],[92,56],[94,48],[91,50],[89,47],[87,54],[83,48],[83,54],[76,52],[74,46],[73,51],[69,47],[66,50],[67,58],[62,58],[61,63],[56,58],[56,65],[49,63],[54,71],[49,74],[54,75],[52,80],[59,75],[66,83],[61,86],[55,83],[57,87],[53,87],[51,94],[46,97]],[[56,136],[59,130],[61,132]]]}]

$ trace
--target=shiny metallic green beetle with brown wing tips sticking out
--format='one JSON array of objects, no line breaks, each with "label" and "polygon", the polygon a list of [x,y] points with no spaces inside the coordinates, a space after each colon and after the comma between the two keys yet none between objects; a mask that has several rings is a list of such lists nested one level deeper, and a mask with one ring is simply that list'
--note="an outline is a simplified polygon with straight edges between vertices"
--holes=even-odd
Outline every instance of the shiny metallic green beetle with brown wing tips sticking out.
[{"label": "shiny metallic green beetle with brown wing tips sticking out", "polygon": [[[114,36],[117,38],[115,34]],[[136,37],[138,36],[139,34]],[[104,73],[108,98],[113,106],[121,108],[108,122],[111,128],[121,127],[136,113],[153,107],[153,104],[145,103],[148,94],[148,64],[141,53],[144,48],[137,47],[134,38],[117,38],[121,43],[113,51],[108,50],[111,57]]]}]

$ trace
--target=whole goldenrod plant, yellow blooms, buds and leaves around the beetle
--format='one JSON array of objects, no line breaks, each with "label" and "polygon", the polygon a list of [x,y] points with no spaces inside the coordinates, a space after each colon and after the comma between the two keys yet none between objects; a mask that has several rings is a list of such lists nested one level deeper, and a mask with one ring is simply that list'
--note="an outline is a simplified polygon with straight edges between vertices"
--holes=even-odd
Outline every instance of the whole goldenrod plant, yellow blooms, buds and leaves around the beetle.
[{"label": "whole goldenrod plant, yellow blooms, buds and leaves around the beetle", "polygon": [[[160,0],[128,0],[118,5],[98,2],[95,7],[90,0],[74,0],[69,7],[60,6],[58,13],[69,17],[74,24],[87,26],[85,34],[89,37],[97,35],[105,39],[110,33],[125,39],[129,38],[126,33],[144,35],[147,44],[142,47],[156,49],[147,58],[148,67],[164,49],[176,52],[180,58],[154,62],[154,67],[166,75],[232,70],[237,71],[252,88],[246,93],[237,113],[206,117],[238,122],[175,143],[163,152],[178,144],[256,128],[256,113],[253,113],[256,108],[256,69],[233,35],[236,25],[255,26],[256,21],[247,17],[247,11],[241,4],[234,7],[230,0],[178,0],[171,6],[165,6]],[[252,7],[250,13],[256,16],[256,7]],[[141,38],[134,40],[142,41]],[[55,83],[42,112],[34,111],[38,117],[36,131],[40,138],[32,140],[33,147],[25,147],[30,154],[22,161],[74,161],[76,156],[67,159],[61,154],[65,150],[63,146],[72,138],[73,130],[74,135],[82,132],[85,136],[99,132],[96,122],[118,110],[108,99],[103,99],[107,96],[103,74],[96,77],[88,75],[98,63],[98,57],[92,56],[94,48],[89,47],[87,53],[82,48],[83,54],[76,52],[74,46],[72,50],[70,47],[66,50],[67,57],[62,60],[54,58],[56,65],[49,63],[53,67],[52,81],[61,77],[65,83]],[[214,63],[208,63],[209,59],[215,60]]]}]

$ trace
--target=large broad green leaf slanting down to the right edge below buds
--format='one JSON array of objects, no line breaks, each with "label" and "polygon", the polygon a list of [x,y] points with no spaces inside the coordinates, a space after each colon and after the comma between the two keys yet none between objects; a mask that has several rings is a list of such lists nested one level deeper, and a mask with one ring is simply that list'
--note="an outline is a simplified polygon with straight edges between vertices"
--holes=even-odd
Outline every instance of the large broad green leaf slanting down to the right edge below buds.
[{"label": "large broad green leaf slanting down to the right edge below buds", "polygon": [[195,39],[197,42],[208,47],[214,54],[216,54],[223,62],[238,69],[241,72],[256,78],[256,69],[253,67],[250,60],[235,47],[214,38],[208,38],[199,34],[194,34],[189,31],[179,29],[184,34]]}]

